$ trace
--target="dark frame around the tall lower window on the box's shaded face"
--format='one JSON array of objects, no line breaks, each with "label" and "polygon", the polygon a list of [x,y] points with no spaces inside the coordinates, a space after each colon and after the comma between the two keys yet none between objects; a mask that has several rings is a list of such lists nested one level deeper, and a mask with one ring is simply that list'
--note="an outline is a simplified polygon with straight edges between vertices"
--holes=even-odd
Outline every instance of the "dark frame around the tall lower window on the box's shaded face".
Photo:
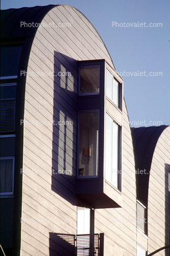
[{"label": "dark frame around the tall lower window on the box's shaded face", "polygon": [[[79,121],[80,121],[80,113],[91,113],[91,112],[97,112],[98,113],[98,145],[97,145],[97,175],[93,175],[93,176],[79,176]],[[94,178],[98,178],[99,177],[99,145],[100,145],[100,131],[99,131],[99,123],[100,123],[100,116],[99,116],[99,110],[95,109],[95,110],[80,110],[78,111],[78,132],[77,132],[77,178],[78,179],[94,179]]]}]

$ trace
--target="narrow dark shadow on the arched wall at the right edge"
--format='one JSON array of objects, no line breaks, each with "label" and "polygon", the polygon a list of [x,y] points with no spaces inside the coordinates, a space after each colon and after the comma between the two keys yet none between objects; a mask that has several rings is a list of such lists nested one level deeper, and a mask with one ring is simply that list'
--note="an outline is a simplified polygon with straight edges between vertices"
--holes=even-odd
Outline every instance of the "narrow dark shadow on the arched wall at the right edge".
[{"label": "narrow dark shadow on the arched wall at the right edge", "polygon": [[[165,246],[170,244],[170,164],[165,164]],[[170,255],[170,248],[165,249]]]}]

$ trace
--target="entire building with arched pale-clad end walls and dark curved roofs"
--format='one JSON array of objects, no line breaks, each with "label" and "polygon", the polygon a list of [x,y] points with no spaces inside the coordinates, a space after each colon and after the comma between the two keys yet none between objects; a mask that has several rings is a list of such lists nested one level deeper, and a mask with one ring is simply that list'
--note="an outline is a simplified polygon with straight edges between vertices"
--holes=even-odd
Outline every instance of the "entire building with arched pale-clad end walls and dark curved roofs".
[{"label": "entire building with arched pale-clad end walls and dark curved roofs", "polygon": [[1,11],[6,256],[143,256],[170,244],[170,127],[131,130],[123,92],[79,10]]}]

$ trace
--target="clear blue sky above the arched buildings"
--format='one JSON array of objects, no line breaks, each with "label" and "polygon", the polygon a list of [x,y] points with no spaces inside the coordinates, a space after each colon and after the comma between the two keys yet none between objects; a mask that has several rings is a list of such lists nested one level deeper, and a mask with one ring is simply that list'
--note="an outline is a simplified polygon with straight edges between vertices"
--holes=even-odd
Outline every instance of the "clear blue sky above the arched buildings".
[{"label": "clear blue sky above the arched buildings", "polygon": [[68,4],[99,32],[124,79],[130,126],[170,125],[169,0],[1,0],[1,9]]}]

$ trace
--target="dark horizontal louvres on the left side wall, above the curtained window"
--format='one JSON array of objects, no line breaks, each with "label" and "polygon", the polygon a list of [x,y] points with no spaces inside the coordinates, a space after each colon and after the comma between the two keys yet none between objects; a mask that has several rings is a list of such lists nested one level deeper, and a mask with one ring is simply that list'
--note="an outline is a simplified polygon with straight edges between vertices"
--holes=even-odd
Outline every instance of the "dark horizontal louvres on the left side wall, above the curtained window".
[{"label": "dark horizontal louvres on the left side wall, above the curtained window", "polygon": [[1,132],[15,131],[15,100],[1,100]]}]

